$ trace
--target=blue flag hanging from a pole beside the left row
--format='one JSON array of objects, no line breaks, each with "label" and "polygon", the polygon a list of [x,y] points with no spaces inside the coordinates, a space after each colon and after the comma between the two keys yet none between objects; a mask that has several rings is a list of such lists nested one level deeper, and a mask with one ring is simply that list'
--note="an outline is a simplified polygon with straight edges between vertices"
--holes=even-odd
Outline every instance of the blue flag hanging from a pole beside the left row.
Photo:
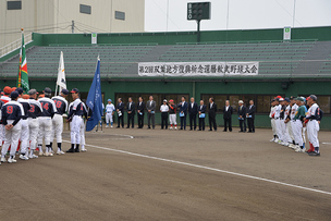
[{"label": "blue flag hanging from a pole beside the left row", "polygon": [[101,95],[99,57],[98,57],[95,77],[87,95],[86,105],[91,110],[91,115],[86,122],[86,131],[89,132],[98,124],[102,115],[102,95]]}]

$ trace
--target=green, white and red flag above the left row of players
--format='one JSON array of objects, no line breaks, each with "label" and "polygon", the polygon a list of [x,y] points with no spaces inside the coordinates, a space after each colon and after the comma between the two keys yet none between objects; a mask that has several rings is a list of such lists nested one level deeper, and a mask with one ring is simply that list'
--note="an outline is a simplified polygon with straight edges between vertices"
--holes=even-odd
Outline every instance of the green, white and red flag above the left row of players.
[{"label": "green, white and red flag above the left row of players", "polygon": [[25,91],[29,90],[23,28],[22,28],[22,46],[21,46],[21,50],[20,50],[17,87],[22,87],[23,90],[25,90]]}]

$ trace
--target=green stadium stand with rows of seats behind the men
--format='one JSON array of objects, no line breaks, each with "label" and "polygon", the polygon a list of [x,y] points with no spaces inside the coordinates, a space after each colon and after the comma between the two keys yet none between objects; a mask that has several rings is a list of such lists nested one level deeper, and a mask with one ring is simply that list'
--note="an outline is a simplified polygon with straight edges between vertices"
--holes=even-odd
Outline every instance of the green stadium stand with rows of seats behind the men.
[{"label": "green stadium stand with rows of seats behind the men", "polygon": [[[46,86],[56,88],[59,57],[63,51],[68,87],[79,88],[84,99],[100,56],[105,102],[119,97],[126,102],[130,96],[136,102],[138,96],[147,100],[154,95],[160,106],[163,98],[180,102],[184,95],[206,103],[212,96],[219,109],[217,122],[222,124],[220,109],[226,99],[234,109],[240,99],[245,103],[253,99],[257,107],[256,125],[269,127],[270,100],[274,96],[315,94],[324,111],[321,128],[331,130],[331,27],[292,28],[291,34],[291,40],[284,41],[283,28],[201,32],[201,41],[196,44],[195,32],[102,33],[97,35],[97,44],[91,44],[91,34],[33,33],[26,53],[29,86],[40,91]],[[15,85],[19,51],[1,57],[0,62],[0,87]],[[213,72],[213,62],[258,64],[257,70],[248,70],[254,75],[229,75],[224,69],[219,75],[169,76],[162,74],[164,70],[148,75],[155,71],[147,67],[146,76],[144,69],[138,67],[146,62],[161,62],[157,63],[161,65],[209,62],[210,65],[205,63],[209,66],[204,66],[204,73]],[[235,72],[240,67],[233,69]],[[160,115],[156,120],[160,122]],[[234,125],[238,124],[236,114],[232,120]]]}]

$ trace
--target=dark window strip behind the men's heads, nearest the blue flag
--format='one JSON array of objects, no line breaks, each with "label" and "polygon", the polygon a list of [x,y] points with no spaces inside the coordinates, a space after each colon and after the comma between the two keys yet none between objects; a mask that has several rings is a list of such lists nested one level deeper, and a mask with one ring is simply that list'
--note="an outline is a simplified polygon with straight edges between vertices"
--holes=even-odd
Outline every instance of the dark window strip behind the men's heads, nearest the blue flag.
[{"label": "dark window strip behind the men's heads, nearest the blue flag", "polygon": [[117,93],[115,94],[115,100],[113,103],[118,105],[118,99],[122,98],[122,101],[125,105],[126,109],[126,103],[130,97],[132,97],[132,100],[137,103],[138,98],[142,96],[144,99],[144,102],[146,103],[149,100],[149,96],[154,97],[154,100],[157,103],[157,111],[160,110],[160,106],[163,103],[163,99],[167,99],[168,101],[170,99],[173,99],[175,105],[179,105],[181,102],[182,96],[186,98],[186,101],[189,102],[189,95],[188,94],[138,94],[138,93]]}]

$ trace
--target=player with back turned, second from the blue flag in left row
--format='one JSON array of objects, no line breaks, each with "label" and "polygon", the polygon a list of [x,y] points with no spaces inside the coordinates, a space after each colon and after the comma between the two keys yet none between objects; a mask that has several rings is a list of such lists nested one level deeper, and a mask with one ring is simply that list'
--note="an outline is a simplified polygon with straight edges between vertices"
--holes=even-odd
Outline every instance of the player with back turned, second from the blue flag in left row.
[{"label": "player with back turned, second from the blue flag in left row", "polygon": [[69,95],[68,89],[62,89],[59,96],[52,97],[52,100],[56,103],[57,112],[52,119],[52,131],[50,136],[50,147],[52,148],[52,144],[54,137],[57,138],[58,151],[57,155],[64,155],[62,151],[62,132],[63,132],[63,118],[62,115],[68,111],[68,101],[65,97]]}]

